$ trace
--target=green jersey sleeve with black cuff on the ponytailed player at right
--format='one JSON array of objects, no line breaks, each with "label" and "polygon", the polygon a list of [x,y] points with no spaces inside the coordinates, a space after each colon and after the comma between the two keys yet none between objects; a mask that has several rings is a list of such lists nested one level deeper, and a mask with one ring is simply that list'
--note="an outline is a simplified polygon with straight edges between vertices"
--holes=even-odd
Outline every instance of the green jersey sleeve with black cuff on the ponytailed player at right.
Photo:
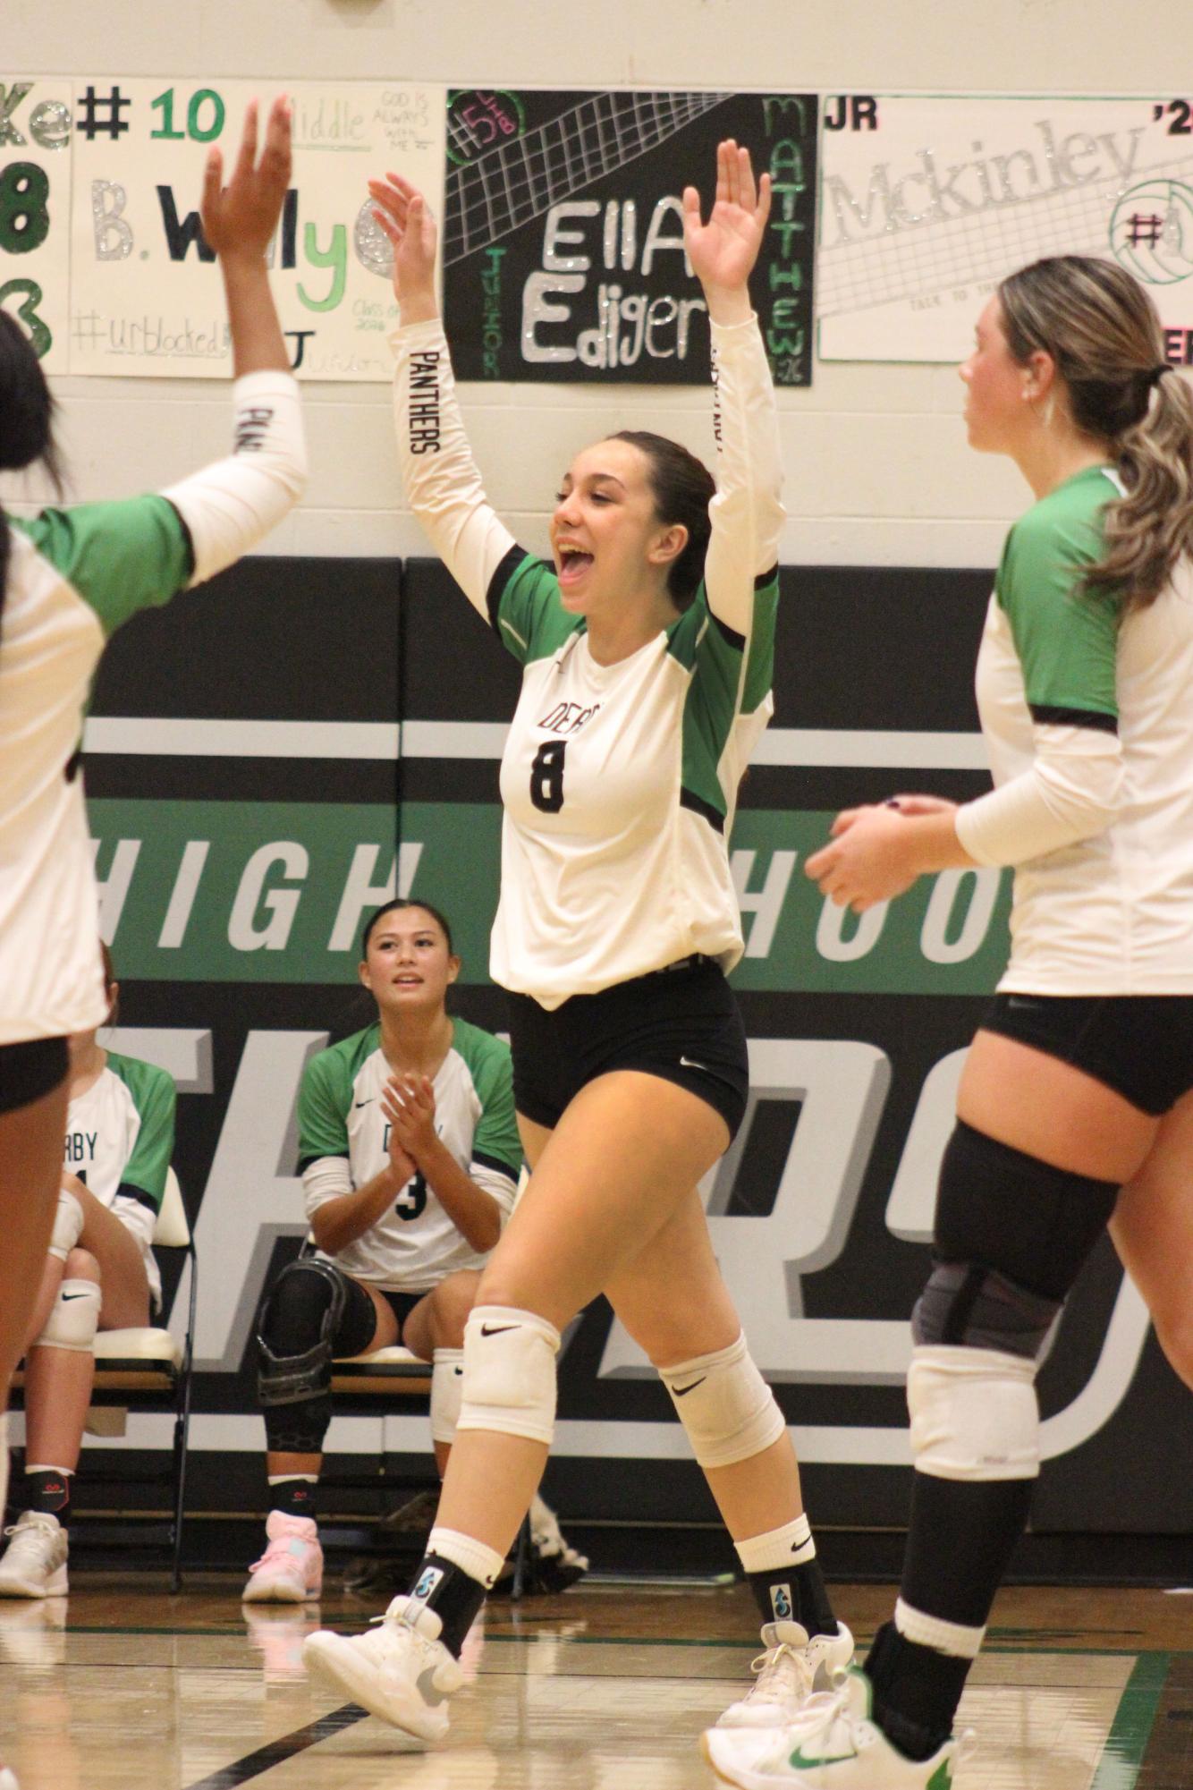
[{"label": "green jersey sleeve with black cuff on the ponytailed player at right", "polygon": [[1105,539],[1102,512],[1114,487],[1100,467],[1066,480],[1007,535],[994,580],[1023,669],[1034,721],[1114,730],[1121,601],[1087,591],[1084,573]]}]

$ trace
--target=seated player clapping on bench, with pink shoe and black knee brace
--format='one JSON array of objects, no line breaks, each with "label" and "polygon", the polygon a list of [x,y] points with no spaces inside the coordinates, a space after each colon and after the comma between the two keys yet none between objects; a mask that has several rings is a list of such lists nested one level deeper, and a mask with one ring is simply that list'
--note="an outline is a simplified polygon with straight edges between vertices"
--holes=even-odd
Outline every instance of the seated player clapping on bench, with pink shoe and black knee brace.
[{"label": "seated player clapping on bench, with pink shoe and black knee brace", "polygon": [[[299,1095],[315,1249],[281,1271],[261,1305],[270,1514],[245,1602],[300,1604],[320,1593],[315,1487],[333,1357],[402,1342],[433,1364],[431,1437],[444,1471],[460,1412],[463,1326],[522,1165],[510,1049],[447,1013],[460,958],[444,915],[426,902],[388,902],[365,925],[361,958],[377,1019],[320,1051]],[[563,1543],[540,1498],[531,1530],[554,1581],[574,1582],[588,1563]]]}]

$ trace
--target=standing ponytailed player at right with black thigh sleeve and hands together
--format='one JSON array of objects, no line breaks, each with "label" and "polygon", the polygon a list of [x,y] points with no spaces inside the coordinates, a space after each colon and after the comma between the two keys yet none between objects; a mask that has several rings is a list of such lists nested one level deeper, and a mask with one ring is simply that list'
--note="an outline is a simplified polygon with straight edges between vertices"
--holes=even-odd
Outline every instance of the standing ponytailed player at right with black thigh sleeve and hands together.
[{"label": "standing ponytailed player at right with black thigh sleeve and hands together", "polygon": [[1188,1332],[1193,399],[1143,288],[1084,256],[1005,279],[960,376],[971,446],[1011,455],[1036,498],[978,653],[996,788],[841,814],[807,872],[864,911],[925,872],[1012,865],[1011,963],[966,1061],[912,1317],[894,1620],[807,1726],[769,1743],[710,1731],[712,1765],[746,1790],[948,1781],[1039,1473],[1037,1359],[1114,1214],[1172,1353]]}]

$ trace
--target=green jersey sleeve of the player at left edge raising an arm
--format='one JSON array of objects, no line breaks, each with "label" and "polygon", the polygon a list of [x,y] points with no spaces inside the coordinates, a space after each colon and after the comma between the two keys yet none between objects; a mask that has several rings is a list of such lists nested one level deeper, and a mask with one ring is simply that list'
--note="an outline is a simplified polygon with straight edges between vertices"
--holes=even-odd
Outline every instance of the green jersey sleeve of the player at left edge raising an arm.
[{"label": "green jersey sleeve of the player at left edge raising an arm", "polygon": [[95,610],[106,637],[140,609],[168,603],[193,571],[190,533],[166,498],[80,503],[14,526]]}]

